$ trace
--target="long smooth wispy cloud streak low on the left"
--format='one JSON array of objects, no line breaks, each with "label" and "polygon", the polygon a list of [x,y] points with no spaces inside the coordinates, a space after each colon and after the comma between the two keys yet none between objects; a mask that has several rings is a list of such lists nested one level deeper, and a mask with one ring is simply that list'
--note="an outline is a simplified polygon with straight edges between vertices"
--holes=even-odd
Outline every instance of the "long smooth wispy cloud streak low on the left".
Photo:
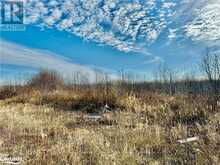
[{"label": "long smooth wispy cloud streak low on the left", "polygon": [[95,78],[92,68],[74,64],[69,59],[51,52],[23,47],[4,40],[0,40],[0,47],[0,64],[56,70],[67,78],[76,72],[87,75],[91,81]]}]

